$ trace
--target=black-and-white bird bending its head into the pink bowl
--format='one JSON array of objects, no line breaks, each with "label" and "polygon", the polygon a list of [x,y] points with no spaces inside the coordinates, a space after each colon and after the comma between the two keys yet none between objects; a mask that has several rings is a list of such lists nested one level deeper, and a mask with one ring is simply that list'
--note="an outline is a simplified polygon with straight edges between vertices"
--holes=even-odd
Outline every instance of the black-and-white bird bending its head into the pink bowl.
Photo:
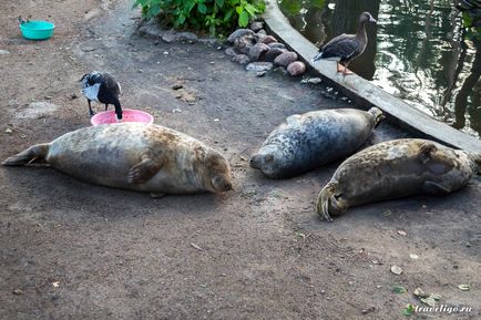
[{"label": "black-and-white bird bending its head into the pink bowl", "polygon": [[120,83],[110,73],[93,71],[84,74],[80,82],[82,82],[82,94],[89,102],[90,116],[95,114],[92,111],[90,102],[95,101],[104,103],[105,111],[109,104],[113,104],[115,106],[116,120],[122,121],[122,106],[119,100],[122,90]]}]

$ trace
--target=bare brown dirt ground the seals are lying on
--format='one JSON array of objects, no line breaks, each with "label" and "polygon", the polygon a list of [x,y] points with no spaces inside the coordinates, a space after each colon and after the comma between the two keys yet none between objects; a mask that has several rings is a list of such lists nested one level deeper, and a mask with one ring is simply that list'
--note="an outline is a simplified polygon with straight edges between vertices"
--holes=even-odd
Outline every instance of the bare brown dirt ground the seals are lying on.
[{"label": "bare brown dirt ground the seals are lying on", "polygon": [[[78,80],[102,70],[122,83],[125,107],[224,152],[234,190],[153,199],[51,168],[1,167],[0,319],[405,319],[407,303],[422,306],[418,287],[472,311],[411,318],[481,319],[479,178],[449,197],[323,223],[314,202],[338,164],[269,180],[245,159],[287,115],[349,105],[279,72],[256,78],[216,44],[140,38],[130,7],[0,2],[0,158],[89,125]],[[21,39],[19,14],[53,20],[54,37]],[[401,136],[383,123],[372,141]]]}]

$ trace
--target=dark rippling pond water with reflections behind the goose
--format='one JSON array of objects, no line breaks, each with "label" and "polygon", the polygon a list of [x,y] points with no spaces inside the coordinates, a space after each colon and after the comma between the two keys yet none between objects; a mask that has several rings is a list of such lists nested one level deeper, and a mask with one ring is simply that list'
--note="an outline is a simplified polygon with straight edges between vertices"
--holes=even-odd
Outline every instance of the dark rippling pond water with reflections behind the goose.
[{"label": "dark rippling pond water with reflections behind the goose", "polygon": [[[366,52],[349,69],[423,112],[481,136],[481,41],[463,37],[452,0],[280,0],[290,23],[323,44],[369,11]],[[463,40],[464,39],[464,40]]]}]

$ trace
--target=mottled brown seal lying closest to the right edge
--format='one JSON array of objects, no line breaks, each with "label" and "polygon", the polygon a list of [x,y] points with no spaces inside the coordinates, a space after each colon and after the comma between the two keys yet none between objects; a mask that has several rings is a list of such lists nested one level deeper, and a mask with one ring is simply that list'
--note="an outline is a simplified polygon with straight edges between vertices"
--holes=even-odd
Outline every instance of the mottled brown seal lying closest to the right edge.
[{"label": "mottled brown seal lying closest to the right edge", "polygon": [[323,188],[317,211],[323,219],[349,207],[418,194],[447,195],[481,171],[481,153],[439,143],[402,138],[376,144],[346,159]]}]

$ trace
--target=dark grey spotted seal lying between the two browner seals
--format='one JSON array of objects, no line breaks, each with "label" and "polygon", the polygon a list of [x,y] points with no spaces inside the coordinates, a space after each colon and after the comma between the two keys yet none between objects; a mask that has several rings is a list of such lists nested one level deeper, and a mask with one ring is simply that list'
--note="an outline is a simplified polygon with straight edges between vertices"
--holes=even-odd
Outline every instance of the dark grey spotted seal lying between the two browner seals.
[{"label": "dark grey spotted seal lying between the two browner seals", "polygon": [[287,178],[342,158],[372,134],[382,112],[355,109],[313,111],[288,116],[250,157],[250,167],[270,178]]}]

